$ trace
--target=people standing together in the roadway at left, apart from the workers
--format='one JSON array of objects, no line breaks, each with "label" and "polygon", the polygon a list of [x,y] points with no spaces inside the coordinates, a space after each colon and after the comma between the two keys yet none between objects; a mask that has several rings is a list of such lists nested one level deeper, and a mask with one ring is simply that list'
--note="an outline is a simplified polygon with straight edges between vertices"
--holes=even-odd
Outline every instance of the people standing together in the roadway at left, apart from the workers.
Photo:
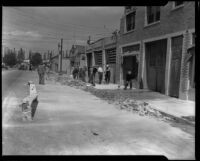
[{"label": "people standing together in the roadway at left, apart from the workers", "polygon": [[45,84],[45,75],[46,79],[49,78],[49,72],[50,68],[48,65],[45,65],[44,63],[40,64],[37,69],[38,75],[39,75],[39,84]]}]

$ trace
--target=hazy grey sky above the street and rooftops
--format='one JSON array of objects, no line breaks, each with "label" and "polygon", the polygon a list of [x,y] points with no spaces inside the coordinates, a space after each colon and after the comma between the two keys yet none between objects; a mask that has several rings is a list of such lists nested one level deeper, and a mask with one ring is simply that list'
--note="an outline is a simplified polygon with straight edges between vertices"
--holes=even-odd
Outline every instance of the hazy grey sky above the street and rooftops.
[{"label": "hazy grey sky above the street and rooftops", "polygon": [[[58,52],[86,45],[120,28],[124,7],[3,7],[3,48]],[[27,57],[27,56],[26,56]]]}]

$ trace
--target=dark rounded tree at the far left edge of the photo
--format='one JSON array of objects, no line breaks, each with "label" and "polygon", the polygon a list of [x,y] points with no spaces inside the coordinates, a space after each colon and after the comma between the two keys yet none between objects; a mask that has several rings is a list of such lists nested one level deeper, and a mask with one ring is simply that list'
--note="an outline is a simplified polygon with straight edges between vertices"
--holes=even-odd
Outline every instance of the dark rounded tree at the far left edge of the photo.
[{"label": "dark rounded tree at the far left edge of the photo", "polygon": [[9,66],[14,66],[17,64],[17,58],[16,58],[16,54],[15,52],[13,51],[8,51],[5,56],[3,57],[3,62],[6,64],[6,65],[9,65]]}]

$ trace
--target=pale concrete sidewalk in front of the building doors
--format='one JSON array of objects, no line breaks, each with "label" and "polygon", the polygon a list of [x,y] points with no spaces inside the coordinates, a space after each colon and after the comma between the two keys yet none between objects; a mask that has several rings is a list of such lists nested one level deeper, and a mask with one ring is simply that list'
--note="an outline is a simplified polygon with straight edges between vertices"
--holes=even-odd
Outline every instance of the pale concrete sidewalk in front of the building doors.
[{"label": "pale concrete sidewalk in front of the building doors", "polygon": [[[118,89],[117,84],[96,84],[96,89]],[[120,87],[123,90],[123,87]],[[130,91],[130,90],[129,90]],[[141,100],[149,103],[154,109],[157,109],[163,113],[167,113],[174,117],[194,117],[195,116],[195,102],[185,101],[177,98],[169,97],[158,92],[153,92],[146,89],[132,89],[131,96],[134,99]]]}]

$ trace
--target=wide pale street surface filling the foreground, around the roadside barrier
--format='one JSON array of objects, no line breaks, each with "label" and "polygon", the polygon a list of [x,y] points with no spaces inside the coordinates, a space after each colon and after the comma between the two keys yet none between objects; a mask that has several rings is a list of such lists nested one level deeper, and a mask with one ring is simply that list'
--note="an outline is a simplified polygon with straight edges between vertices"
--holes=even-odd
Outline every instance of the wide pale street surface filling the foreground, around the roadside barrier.
[{"label": "wide pale street surface filling the foreground, around the roadside barrier", "polygon": [[[39,104],[23,122],[20,101],[29,80]],[[36,71],[3,71],[3,155],[164,155],[194,159],[194,136],[179,128],[120,111],[94,95],[47,81]]]}]

